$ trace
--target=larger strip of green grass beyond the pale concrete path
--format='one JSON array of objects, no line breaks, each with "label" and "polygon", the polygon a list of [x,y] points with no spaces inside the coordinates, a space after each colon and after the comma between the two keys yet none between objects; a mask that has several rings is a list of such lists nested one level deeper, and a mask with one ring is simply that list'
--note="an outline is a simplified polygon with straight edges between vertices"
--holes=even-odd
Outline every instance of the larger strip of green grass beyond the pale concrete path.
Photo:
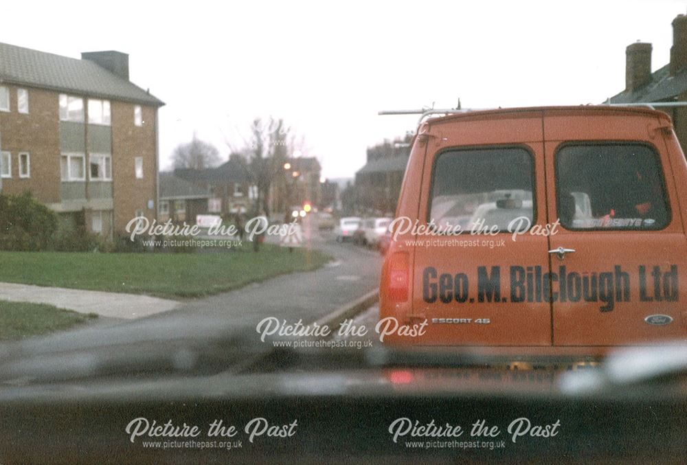
[{"label": "larger strip of green grass beyond the pale concrete path", "polygon": [[159,297],[203,297],[270,277],[313,271],[324,253],[262,245],[217,253],[0,252],[0,282]]}]

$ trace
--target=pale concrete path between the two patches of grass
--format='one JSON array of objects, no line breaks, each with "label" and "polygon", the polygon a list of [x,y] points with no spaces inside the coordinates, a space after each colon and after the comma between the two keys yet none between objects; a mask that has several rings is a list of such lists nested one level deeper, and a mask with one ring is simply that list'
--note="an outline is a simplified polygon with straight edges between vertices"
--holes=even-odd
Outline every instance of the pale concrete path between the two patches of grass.
[{"label": "pale concrete path between the two patches of grass", "polygon": [[179,302],[174,300],[147,295],[82,291],[8,282],[0,282],[0,300],[49,304],[78,313],[97,313],[102,317],[117,319],[149,317],[179,306]]}]

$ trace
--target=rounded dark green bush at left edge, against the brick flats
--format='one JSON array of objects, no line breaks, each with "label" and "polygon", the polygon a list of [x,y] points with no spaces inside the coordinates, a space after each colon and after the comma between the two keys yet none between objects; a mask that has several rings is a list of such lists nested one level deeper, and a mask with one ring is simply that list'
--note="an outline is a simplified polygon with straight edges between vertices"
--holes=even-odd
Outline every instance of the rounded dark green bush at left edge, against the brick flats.
[{"label": "rounded dark green bush at left edge, against the brick flats", "polygon": [[57,225],[56,213],[36,201],[31,192],[0,194],[0,249],[45,250],[52,242]]}]

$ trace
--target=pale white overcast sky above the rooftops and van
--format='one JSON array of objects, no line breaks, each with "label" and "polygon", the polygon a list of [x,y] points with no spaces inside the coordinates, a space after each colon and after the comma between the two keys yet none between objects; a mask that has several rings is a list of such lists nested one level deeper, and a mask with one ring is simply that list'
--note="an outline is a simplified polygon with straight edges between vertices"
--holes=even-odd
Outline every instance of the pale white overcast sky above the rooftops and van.
[{"label": "pale white overcast sky above the rooftops and van", "polygon": [[166,102],[162,167],[194,131],[223,157],[254,117],[282,117],[326,177],[413,130],[383,109],[598,103],[624,88],[625,47],[668,63],[687,1],[4,2],[0,41],[80,58],[129,54]]}]

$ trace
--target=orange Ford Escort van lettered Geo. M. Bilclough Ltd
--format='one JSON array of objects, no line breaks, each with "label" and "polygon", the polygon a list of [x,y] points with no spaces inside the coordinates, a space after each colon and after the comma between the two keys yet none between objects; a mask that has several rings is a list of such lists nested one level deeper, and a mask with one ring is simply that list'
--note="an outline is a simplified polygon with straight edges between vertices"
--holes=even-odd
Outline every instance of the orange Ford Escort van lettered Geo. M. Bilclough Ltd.
[{"label": "orange Ford Escort van lettered Geo. M. Bilclough Ltd", "polygon": [[660,111],[427,120],[383,264],[384,342],[603,354],[684,341],[686,208],[687,163]]}]

